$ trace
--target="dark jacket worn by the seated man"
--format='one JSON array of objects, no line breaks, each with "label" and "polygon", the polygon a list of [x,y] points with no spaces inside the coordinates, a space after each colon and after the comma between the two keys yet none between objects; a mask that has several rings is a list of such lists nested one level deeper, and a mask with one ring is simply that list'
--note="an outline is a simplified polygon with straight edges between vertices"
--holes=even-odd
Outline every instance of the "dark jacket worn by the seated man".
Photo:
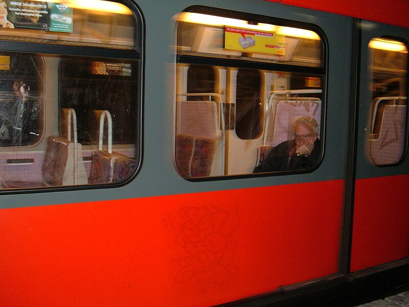
[{"label": "dark jacket worn by the seated man", "polygon": [[270,154],[254,170],[254,173],[307,169],[320,159],[320,140],[316,139],[314,148],[308,157],[295,155],[296,141],[285,141],[274,147]]}]

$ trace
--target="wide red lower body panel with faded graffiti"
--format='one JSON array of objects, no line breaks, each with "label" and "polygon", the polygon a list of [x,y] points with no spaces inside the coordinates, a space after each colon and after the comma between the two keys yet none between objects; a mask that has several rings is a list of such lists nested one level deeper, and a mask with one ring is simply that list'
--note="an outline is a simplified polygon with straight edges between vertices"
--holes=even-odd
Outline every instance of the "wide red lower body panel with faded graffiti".
[{"label": "wide red lower body panel with faded graffiti", "polygon": [[0,305],[207,306],[331,275],[343,194],[337,180],[3,209]]}]

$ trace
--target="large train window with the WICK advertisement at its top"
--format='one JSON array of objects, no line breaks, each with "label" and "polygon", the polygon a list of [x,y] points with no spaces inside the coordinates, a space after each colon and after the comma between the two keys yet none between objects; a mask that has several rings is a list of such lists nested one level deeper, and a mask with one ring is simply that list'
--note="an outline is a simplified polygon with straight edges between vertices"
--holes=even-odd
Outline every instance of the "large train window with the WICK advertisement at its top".
[{"label": "large train window with the WICK advertisement at its top", "polygon": [[142,16],[103,0],[6,3],[0,189],[126,182],[141,159]]}]

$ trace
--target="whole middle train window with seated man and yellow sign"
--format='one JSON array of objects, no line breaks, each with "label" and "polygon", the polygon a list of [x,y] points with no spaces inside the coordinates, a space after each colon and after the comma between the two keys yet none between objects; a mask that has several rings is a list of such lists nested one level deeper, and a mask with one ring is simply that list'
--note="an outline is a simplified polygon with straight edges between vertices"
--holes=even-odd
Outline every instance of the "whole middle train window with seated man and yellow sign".
[{"label": "whole middle train window with seated man and yellow sign", "polygon": [[177,16],[176,169],[187,179],[313,170],[323,150],[321,36],[229,14]]}]

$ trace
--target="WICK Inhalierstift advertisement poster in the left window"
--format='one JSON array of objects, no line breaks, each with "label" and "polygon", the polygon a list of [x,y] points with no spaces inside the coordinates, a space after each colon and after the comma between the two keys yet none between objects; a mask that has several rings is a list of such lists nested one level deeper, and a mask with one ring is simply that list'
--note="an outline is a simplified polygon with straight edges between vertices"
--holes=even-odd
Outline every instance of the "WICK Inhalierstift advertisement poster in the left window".
[{"label": "WICK Inhalierstift advertisement poster in the left window", "polygon": [[2,28],[73,32],[73,9],[68,6],[31,0],[0,0]]}]

